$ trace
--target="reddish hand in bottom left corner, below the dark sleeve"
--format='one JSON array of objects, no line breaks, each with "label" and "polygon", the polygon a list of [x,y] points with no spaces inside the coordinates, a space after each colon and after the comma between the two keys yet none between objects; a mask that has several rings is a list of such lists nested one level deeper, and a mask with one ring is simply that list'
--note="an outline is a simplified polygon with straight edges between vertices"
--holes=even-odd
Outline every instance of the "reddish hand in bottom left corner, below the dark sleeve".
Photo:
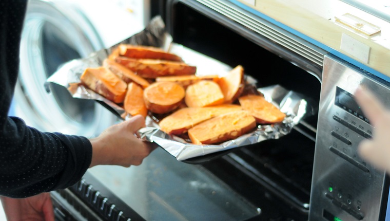
[{"label": "reddish hand in bottom left corner, below the dark sleeve", "polygon": [[0,199],[8,221],[54,221],[49,193],[20,199],[1,196]]}]

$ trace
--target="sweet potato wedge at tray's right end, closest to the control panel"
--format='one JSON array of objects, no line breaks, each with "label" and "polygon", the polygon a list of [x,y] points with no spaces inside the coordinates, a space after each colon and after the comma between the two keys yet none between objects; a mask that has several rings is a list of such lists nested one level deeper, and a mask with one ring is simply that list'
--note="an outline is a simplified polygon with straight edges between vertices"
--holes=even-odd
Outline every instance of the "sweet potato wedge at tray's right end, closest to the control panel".
[{"label": "sweet potato wedge at tray's right end, closest to the control panel", "polygon": [[266,101],[260,95],[247,95],[240,97],[239,102],[242,109],[246,110],[258,123],[279,123],[286,117],[286,114],[280,111],[274,104]]}]

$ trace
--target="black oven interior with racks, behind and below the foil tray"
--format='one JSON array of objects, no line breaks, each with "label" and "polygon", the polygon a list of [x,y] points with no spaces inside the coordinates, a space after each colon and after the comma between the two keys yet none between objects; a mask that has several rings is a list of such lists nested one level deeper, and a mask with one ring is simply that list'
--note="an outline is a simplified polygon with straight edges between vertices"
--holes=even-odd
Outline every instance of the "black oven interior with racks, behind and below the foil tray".
[{"label": "black oven interior with racks, behind and below the foil tray", "polygon": [[239,148],[202,164],[261,208],[264,220],[307,219],[320,81],[207,14],[180,2],[171,7],[172,18],[167,23],[175,43],[231,67],[242,65],[246,75],[257,79],[258,87],[279,84],[303,94],[313,105],[314,114],[289,135]]}]

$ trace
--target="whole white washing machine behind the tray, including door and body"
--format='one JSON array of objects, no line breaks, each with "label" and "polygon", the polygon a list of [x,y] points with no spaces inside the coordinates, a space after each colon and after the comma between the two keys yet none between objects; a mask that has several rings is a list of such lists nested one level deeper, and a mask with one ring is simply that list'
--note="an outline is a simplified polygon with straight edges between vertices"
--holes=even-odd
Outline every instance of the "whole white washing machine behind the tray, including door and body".
[{"label": "whole white washing machine behind the tray, including door and body", "polygon": [[63,86],[44,83],[63,63],[108,48],[140,32],[149,1],[29,0],[21,64],[11,116],[43,132],[94,137],[119,121],[93,100],[72,98]]}]

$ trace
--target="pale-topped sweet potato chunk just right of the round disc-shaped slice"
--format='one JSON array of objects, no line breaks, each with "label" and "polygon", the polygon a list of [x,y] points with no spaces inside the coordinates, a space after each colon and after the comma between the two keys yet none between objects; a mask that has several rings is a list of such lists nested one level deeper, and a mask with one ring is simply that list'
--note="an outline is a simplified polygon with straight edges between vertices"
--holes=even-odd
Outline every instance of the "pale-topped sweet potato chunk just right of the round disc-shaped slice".
[{"label": "pale-topped sweet potato chunk just right of the round disc-shaped slice", "polygon": [[189,107],[206,107],[224,102],[221,88],[216,82],[202,80],[186,89],[185,102]]}]

